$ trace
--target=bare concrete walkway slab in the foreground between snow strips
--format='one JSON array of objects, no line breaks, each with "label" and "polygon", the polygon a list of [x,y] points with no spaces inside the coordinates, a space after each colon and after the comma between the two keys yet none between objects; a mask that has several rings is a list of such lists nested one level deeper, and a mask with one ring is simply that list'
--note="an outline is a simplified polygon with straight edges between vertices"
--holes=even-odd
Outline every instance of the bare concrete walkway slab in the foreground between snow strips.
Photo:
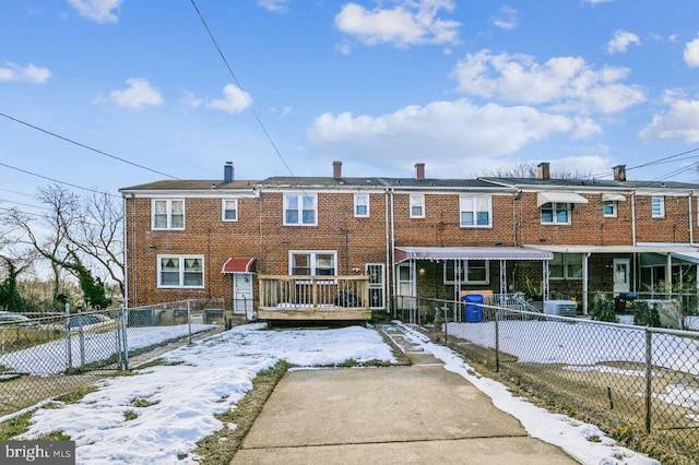
[{"label": "bare concrete walkway slab in the foreground between snow strips", "polygon": [[233,464],[577,464],[400,334],[410,367],[287,372]]}]

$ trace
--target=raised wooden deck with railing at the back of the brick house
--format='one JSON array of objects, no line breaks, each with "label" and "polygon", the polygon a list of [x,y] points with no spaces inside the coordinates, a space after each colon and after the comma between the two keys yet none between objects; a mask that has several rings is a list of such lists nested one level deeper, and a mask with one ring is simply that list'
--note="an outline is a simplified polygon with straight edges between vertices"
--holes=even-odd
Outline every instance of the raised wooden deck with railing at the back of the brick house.
[{"label": "raised wooden deck with railing at the back of the brick house", "polygon": [[371,319],[369,276],[259,275],[260,320]]}]

